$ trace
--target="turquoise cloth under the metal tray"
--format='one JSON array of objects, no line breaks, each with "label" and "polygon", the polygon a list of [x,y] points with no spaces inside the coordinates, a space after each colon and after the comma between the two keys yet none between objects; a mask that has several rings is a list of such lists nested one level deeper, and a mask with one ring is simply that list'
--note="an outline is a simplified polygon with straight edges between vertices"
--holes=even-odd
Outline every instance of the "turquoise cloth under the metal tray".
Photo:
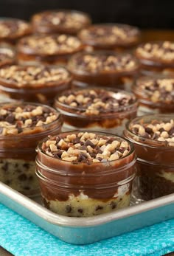
[{"label": "turquoise cloth under the metal tray", "polygon": [[105,241],[75,246],[0,204],[0,245],[15,256],[159,256],[174,251],[174,219]]}]

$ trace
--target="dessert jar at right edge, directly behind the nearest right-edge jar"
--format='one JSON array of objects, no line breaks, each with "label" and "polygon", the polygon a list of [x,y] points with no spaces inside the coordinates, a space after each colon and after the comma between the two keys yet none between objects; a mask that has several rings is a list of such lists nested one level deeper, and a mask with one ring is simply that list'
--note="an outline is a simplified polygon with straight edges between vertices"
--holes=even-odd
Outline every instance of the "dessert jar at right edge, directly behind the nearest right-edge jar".
[{"label": "dessert jar at right edge, directly behind the nearest right-edge jar", "polygon": [[174,76],[140,77],[133,86],[138,115],[174,113]]}]

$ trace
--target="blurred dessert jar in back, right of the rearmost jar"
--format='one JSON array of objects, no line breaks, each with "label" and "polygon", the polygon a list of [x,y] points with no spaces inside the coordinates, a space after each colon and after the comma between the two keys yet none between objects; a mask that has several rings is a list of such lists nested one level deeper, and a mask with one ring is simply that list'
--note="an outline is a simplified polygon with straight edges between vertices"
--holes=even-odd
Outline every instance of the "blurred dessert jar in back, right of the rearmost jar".
[{"label": "blurred dessert jar in back, right of the rearmost jar", "polygon": [[81,30],[78,37],[88,50],[123,51],[139,44],[140,31],[127,24],[94,24]]}]

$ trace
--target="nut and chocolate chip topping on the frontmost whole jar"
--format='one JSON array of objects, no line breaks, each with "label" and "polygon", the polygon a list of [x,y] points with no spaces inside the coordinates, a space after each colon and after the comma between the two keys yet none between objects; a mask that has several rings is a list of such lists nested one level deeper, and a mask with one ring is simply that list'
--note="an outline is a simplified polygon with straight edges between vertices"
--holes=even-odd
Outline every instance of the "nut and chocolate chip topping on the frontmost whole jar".
[{"label": "nut and chocolate chip topping on the frontmost whole jar", "polygon": [[130,152],[130,145],[124,139],[90,132],[49,136],[41,148],[49,156],[73,164],[113,161],[127,156]]}]

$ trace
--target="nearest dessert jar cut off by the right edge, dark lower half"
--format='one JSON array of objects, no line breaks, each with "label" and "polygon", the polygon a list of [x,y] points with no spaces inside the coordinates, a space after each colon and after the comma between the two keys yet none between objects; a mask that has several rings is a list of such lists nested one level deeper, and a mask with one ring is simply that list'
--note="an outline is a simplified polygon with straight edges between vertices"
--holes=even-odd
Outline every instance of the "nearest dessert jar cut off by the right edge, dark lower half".
[{"label": "nearest dessert jar cut off by the right edge, dark lower half", "polygon": [[124,132],[137,154],[133,188],[136,201],[174,193],[173,114],[152,114],[130,121]]}]

